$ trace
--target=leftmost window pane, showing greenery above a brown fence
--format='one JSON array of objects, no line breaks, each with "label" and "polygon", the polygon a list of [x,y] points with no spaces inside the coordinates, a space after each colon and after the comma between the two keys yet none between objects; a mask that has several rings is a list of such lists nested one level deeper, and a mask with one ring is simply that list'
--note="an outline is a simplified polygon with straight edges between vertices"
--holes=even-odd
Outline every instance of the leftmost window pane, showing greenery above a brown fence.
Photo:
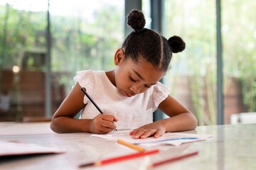
[{"label": "leftmost window pane, showing greenery above a brown fence", "polygon": [[0,120],[45,109],[46,1],[1,1]]}]

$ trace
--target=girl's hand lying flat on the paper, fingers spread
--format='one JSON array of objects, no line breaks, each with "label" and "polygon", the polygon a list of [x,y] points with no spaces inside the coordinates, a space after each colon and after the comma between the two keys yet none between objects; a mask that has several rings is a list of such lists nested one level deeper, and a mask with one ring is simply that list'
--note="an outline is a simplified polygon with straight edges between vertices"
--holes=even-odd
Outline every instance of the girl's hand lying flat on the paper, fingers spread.
[{"label": "girl's hand lying flat on the paper, fingers spread", "polygon": [[164,135],[165,132],[166,129],[164,128],[164,126],[160,123],[155,122],[132,130],[131,132],[129,132],[129,135],[132,135],[132,138],[134,139],[145,139],[146,137],[150,137],[152,135],[156,138],[160,137],[161,135]]}]

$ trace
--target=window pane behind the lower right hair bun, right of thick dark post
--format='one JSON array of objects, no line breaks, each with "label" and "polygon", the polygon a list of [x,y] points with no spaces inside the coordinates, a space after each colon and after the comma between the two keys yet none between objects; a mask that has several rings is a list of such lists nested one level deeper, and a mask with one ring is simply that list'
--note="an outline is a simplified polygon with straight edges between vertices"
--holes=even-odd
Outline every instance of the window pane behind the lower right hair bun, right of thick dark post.
[{"label": "window pane behind the lower right hair bun, right of thick dark post", "polygon": [[166,84],[171,95],[198,118],[200,125],[215,124],[216,17],[215,1],[165,1],[164,35],[178,35],[186,50],[173,55]]}]

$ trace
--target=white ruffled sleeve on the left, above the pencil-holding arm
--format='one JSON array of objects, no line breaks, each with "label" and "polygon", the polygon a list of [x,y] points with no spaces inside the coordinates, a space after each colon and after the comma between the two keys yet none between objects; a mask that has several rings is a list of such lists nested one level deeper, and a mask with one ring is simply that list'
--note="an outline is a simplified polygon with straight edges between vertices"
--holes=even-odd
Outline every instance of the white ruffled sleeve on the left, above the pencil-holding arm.
[{"label": "white ruffled sleeve on the left, above the pencil-holding arm", "polygon": [[[95,87],[95,74],[92,70],[79,71],[73,79],[75,83],[78,82],[81,87],[85,87],[87,93],[92,96]],[[88,101],[89,99],[85,96],[84,103],[86,104]]]}]

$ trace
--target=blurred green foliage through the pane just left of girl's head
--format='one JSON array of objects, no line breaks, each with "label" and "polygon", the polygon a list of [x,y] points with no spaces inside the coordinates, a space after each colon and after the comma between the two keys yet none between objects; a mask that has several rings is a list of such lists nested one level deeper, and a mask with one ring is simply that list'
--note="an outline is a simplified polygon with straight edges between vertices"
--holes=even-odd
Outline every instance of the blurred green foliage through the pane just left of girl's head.
[{"label": "blurred green foliage through the pane just left of girl's head", "polygon": [[80,69],[110,69],[122,37],[121,29],[113,29],[122,26],[119,12],[113,6],[105,6],[94,12],[90,22],[81,16],[51,16],[53,69],[73,75]]}]

